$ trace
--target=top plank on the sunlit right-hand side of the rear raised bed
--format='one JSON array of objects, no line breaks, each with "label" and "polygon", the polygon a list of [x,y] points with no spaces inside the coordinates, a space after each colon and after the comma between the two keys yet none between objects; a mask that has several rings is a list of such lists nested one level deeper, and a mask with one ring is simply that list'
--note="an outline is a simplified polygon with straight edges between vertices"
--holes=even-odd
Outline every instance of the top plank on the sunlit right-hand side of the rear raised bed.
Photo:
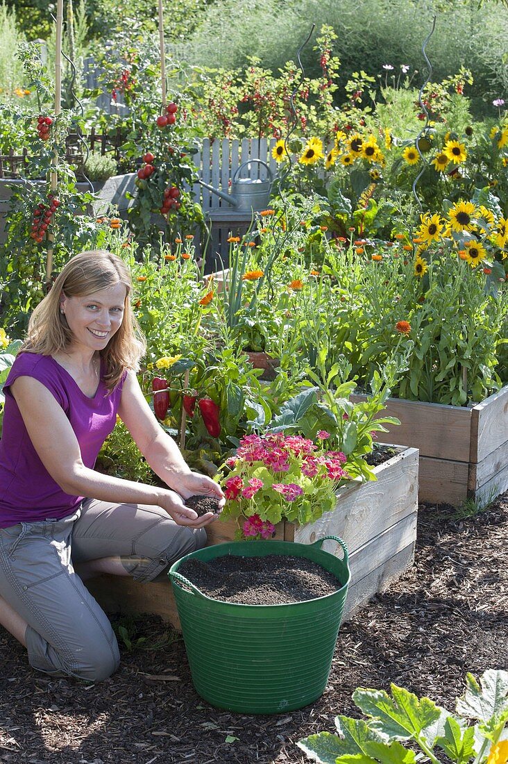
[{"label": "top plank on the sunlit right-hand side of the rear raised bed", "polygon": [[508,385],[471,410],[472,462],[482,461],[508,439]]}]

